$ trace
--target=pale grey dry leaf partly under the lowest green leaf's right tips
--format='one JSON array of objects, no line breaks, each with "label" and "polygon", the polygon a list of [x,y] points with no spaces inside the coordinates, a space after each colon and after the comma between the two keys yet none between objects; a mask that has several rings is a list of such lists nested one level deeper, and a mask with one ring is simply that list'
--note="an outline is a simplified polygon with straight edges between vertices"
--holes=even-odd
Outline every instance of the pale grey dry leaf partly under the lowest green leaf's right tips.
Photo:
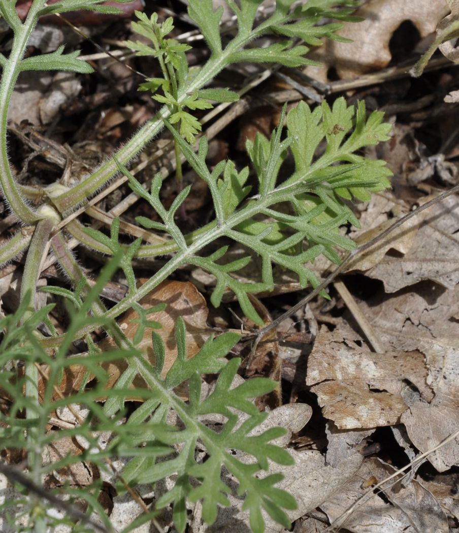
[{"label": "pale grey dry leaf partly under the lowest green leaf's right tips", "polygon": [[[295,466],[286,469],[285,478],[277,484],[278,487],[288,490],[296,498],[298,508],[289,511],[291,521],[297,520],[309,511],[312,511],[333,494],[339,494],[341,487],[351,478],[362,464],[362,456],[355,454],[343,461],[339,466],[326,465],[325,458],[317,450],[297,451],[289,450],[295,459]],[[278,466],[276,466],[278,470]],[[206,529],[197,528],[193,533],[206,531],[206,533],[250,533],[249,516],[247,512],[237,512],[240,500],[229,496],[231,507],[220,508],[217,521]],[[266,514],[266,533],[279,533],[284,531],[280,524],[274,522]]]}]

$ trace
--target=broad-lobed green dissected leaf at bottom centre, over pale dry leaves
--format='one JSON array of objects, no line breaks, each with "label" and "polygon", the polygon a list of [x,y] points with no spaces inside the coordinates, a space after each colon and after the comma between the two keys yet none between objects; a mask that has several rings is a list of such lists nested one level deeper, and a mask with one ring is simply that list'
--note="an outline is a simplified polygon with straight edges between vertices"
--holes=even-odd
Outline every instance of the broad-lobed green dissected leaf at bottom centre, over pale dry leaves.
[{"label": "broad-lobed green dissected leaf at bottom centre, over pale dry leaves", "polygon": [[[177,343],[182,346],[179,352],[186,350],[183,328],[183,323],[178,321],[176,338]],[[260,468],[267,469],[268,459],[284,465],[291,465],[292,459],[285,450],[269,442],[279,437],[285,430],[271,429],[261,435],[250,435],[252,429],[263,421],[266,415],[260,414],[249,399],[272,391],[275,383],[269,379],[257,378],[231,389],[240,360],[232,359],[228,362],[220,358],[227,354],[238,338],[239,335],[231,333],[220,335],[216,339],[210,338],[192,359],[186,360],[183,355],[177,358],[166,379],[164,381],[160,379],[159,384],[160,387],[170,390],[183,380],[190,379],[190,404],[179,402],[177,398],[173,398],[170,404],[174,406],[187,429],[163,431],[161,426],[153,424],[150,428],[149,422],[144,423],[140,437],[144,442],[143,449],[146,450],[146,454],[132,459],[123,472],[124,478],[130,482],[154,482],[167,475],[177,474],[174,487],[159,499],[158,506],[163,507],[173,503],[174,508],[177,507],[175,516],[178,521],[176,527],[179,530],[185,527],[183,513],[187,499],[203,500],[205,519],[209,523],[215,520],[218,505],[228,505],[225,494],[231,489],[222,478],[223,466],[239,481],[241,494],[247,491],[251,514],[257,513],[260,506],[266,509],[269,507],[271,509],[268,511],[269,514],[281,517],[282,522],[286,523],[282,507],[291,508],[294,505],[289,495],[275,489],[274,484],[281,479],[280,477],[268,476],[263,481],[256,477]],[[158,342],[160,341],[156,337],[155,343]],[[158,350],[158,347],[155,350]],[[218,371],[220,374],[214,392],[206,400],[201,401],[199,373]],[[234,414],[234,409],[248,415],[247,420],[239,427],[236,427],[237,415]],[[228,419],[223,429],[218,432],[209,429],[201,422],[203,415],[212,413],[224,415]],[[166,411],[162,416],[165,415]],[[144,416],[148,416],[146,411]],[[141,421],[142,418],[137,415],[129,419],[127,425]],[[209,457],[204,463],[196,461],[194,456],[197,439],[207,449]],[[167,445],[180,444],[181,451],[171,455],[172,448],[162,446],[161,442]],[[231,449],[252,454],[256,457],[257,463],[250,466],[244,464],[237,456],[230,453]],[[197,480],[198,484],[192,484],[191,479]],[[256,497],[257,492],[259,495]]]}]

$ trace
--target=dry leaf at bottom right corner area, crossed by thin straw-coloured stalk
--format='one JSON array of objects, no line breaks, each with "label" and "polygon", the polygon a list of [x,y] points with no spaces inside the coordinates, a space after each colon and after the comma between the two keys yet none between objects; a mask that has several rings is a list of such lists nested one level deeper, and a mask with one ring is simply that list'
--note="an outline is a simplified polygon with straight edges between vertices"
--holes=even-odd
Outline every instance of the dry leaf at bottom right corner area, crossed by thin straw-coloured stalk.
[{"label": "dry leaf at bottom right corner area, crossed by thin straw-coloured stalk", "polygon": [[[331,521],[337,519],[362,496],[371,484],[394,473],[379,459],[366,459],[359,471],[339,494],[321,504]],[[372,483],[373,481],[373,483]],[[354,533],[447,533],[448,520],[432,494],[413,481],[407,488],[399,484],[384,491],[386,499],[374,495],[350,515],[342,527]]]}]

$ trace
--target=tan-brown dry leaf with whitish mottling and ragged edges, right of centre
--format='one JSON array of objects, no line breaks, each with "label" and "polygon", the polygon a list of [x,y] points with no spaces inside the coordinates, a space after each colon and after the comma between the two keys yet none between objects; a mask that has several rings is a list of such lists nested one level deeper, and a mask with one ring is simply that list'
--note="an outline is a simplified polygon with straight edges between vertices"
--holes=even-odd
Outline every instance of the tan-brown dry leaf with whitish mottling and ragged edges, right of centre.
[{"label": "tan-brown dry leaf with whitish mottling and ragged edges, right of centre", "polygon": [[376,354],[355,341],[362,342],[344,322],[333,332],[322,327],[308,360],[306,384],[339,429],[396,424],[407,408],[400,395],[406,379],[431,399],[421,353]]}]

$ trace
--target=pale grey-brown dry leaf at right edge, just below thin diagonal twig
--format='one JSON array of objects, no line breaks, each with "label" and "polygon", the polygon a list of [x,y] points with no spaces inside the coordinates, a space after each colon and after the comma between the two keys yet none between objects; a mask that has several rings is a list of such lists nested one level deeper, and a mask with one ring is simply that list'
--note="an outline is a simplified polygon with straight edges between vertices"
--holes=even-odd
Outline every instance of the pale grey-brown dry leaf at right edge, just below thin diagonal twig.
[{"label": "pale grey-brown dry leaf at right edge, just below thin diagonal twig", "polygon": [[[394,293],[424,279],[448,289],[459,282],[459,198],[449,196],[427,213],[404,257],[386,256],[367,272],[383,281],[386,292]],[[395,237],[407,232],[411,234],[402,226]],[[389,240],[393,238],[389,236]]]}]

